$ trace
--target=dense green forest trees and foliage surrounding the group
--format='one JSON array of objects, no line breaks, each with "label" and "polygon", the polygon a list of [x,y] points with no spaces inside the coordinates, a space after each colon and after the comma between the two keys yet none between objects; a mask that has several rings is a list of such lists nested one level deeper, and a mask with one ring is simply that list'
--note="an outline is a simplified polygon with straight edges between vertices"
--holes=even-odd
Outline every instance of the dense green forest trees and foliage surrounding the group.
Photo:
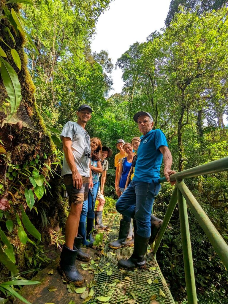
[{"label": "dense green forest trees and foliage surrounding the group", "polygon": [[[181,9],[171,21],[179,3],[193,11]],[[46,146],[39,142],[36,143],[39,153],[37,148],[31,154],[23,142],[1,155],[0,194],[11,209],[0,212],[4,239],[0,255],[12,273],[17,271],[15,265],[32,269],[49,261],[40,239],[45,245],[63,242],[57,221],[64,230],[68,210],[60,195],[64,185],[59,176],[62,161],[59,134],[68,120],[77,120],[81,103],[93,108],[92,119],[86,126],[88,133],[101,138],[114,155],[118,138],[130,142],[132,137],[140,136],[132,117],[135,112],[145,110],[154,117],[154,127],[167,136],[174,170],[227,156],[224,117],[228,115],[228,10],[203,9],[202,2],[171,1],[169,27],[161,33],[151,33],[143,43],[135,42],[117,60],[116,65],[123,72],[124,88],[123,92],[108,97],[112,86],[111,59],[104,50],[93,54],[90,50],[95,22],[108,4],[109,1],[102,0],[41,0],[34,7],[21,10],[24,26],[38,51],[31,44],[25,45],[29,72],[36,87],[36,104],[43,119],[40,118],[40,125],[45,128],[46,136],[51,134],[56,146],[52,142]],[[196,4],[201,7],[197,9]],[[207,4],[218,9],[223,3],[208,1]],[[207,10],[211,12],[202,13]],[[26,107],[26,111],[32,119],[30,108]],[[24,129],[21,132],[27,134]],[[15,136],[20,137],[17,133]],[[28,143],[36,142],[34,138]],[[109,159],[111,170],[105,185],[105,195],[112,198],[116,198],[114,155]],[[186,184],[228,240],[227,172],[192,178]],[[161,218],[172,190],[170,185],[163,184],[157,197],[154,210]],[[105,212],[109,205],[113,206],[112,199],[107,200]],[[29,216],[29,226],[23,222],[25,214]],[[58,214],[60,217],[54,220]],[[42,228],[37,228],[37,222]],[[190,211],[189,225],[199,303],[225,304],[227,272]],[[7,242],[8,238],[13,246]],[[186,303],[178,206],[157,252],[157,260],[174,299]],[[3,269],[8,276],[6,267]]]}]

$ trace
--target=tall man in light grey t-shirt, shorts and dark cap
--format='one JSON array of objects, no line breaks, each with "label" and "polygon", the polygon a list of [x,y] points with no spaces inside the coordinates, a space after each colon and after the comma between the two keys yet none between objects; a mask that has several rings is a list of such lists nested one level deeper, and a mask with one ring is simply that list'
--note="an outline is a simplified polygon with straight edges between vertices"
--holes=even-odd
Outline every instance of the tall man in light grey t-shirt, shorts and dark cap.
[{"label": "tall man in light grey t-shirt, shorts and dark cap", "polygon": [[75,267],[78,257],[89,261],[90,257],[81,250],[82,237],[78,235],[78,226],[83,201],[87,199],[92,185],[90,164],[90,137],[85,125],[91,118],[92,109],[89,105],[78,108],[77,123],[69,121],[63,127],[60,138],[63,143],[64,160],[61,175],[69,197],[71,211],[66,221],[66,243],[60,255],[59,270],[64,280],[76,286],[82,285],[84,279]]}]

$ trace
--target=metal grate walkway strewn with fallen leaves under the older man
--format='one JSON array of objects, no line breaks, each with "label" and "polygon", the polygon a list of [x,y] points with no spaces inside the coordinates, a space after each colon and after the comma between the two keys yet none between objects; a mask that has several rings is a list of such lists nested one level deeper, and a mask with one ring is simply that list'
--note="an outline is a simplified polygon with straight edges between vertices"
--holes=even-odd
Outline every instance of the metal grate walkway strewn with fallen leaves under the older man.
[{"label": "metal grate walkway strewn with fallen leaves under the older man", "polygon": [[[108,242],[118,238],[119,221],[120,215],[117,214],[110,230]],[[109,304],[175,303],[157,261],[151,252],[146,254],[147,269],[121,271],[117,268],[118,260],[130,257],[132,252],[132,247],[115,250],[109,248],[108,243],[105,245],[104,254],[107,254],[107,256],[102,255],[99,263],[99,268],[103,271],[95,275],[94,296],[88,304],[104,303],[99,302],[97,299],[100,296],[109,297],[109,299],[106,299]],[[119,282],[115,282],[115,279],[118,279]]]}]

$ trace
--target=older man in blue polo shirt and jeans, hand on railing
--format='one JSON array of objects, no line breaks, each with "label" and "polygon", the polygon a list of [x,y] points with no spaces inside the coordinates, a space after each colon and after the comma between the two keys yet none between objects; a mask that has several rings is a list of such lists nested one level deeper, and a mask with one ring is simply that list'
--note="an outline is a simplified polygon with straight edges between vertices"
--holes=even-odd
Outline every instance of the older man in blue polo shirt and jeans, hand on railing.
[{"label": "older man in blue polo shirt and jeans, hand on railing", "polygon": [[[119,260],[118,267],[124,269],[146,268],[145,253],[150,239],[151,210],[155,196],[160,191],[160,167],[164,158],[164,176],[175,171],[171,170],[172,155],[164,133],[153,129],[153,118],[148,112],[137,112],[134,121],[143,135],[138,147],[138,158],[135,166],[135,175],[116,203],[116,210],[136,219],[137,231],[135,233],[134,251],[127,260]],[[174,182],[171,182],[174,184]]]}]

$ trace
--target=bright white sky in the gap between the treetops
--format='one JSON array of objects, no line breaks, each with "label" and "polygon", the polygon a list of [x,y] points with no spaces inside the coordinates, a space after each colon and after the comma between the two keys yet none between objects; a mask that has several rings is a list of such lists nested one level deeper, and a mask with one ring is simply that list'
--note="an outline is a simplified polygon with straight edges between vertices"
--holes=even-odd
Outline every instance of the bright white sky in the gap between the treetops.
[{"label": "bright white sky in the gap between the treetops", "polygon": [[[130,45],[146,41],[147,36],[164,27],[170,0],[114,0],[110,8],[98,19],[92,52],[107,50],[112,63],[129,49]],[[120,93],[123,88],[122,71],[113,69],[113,90],[110,95]]]}]

